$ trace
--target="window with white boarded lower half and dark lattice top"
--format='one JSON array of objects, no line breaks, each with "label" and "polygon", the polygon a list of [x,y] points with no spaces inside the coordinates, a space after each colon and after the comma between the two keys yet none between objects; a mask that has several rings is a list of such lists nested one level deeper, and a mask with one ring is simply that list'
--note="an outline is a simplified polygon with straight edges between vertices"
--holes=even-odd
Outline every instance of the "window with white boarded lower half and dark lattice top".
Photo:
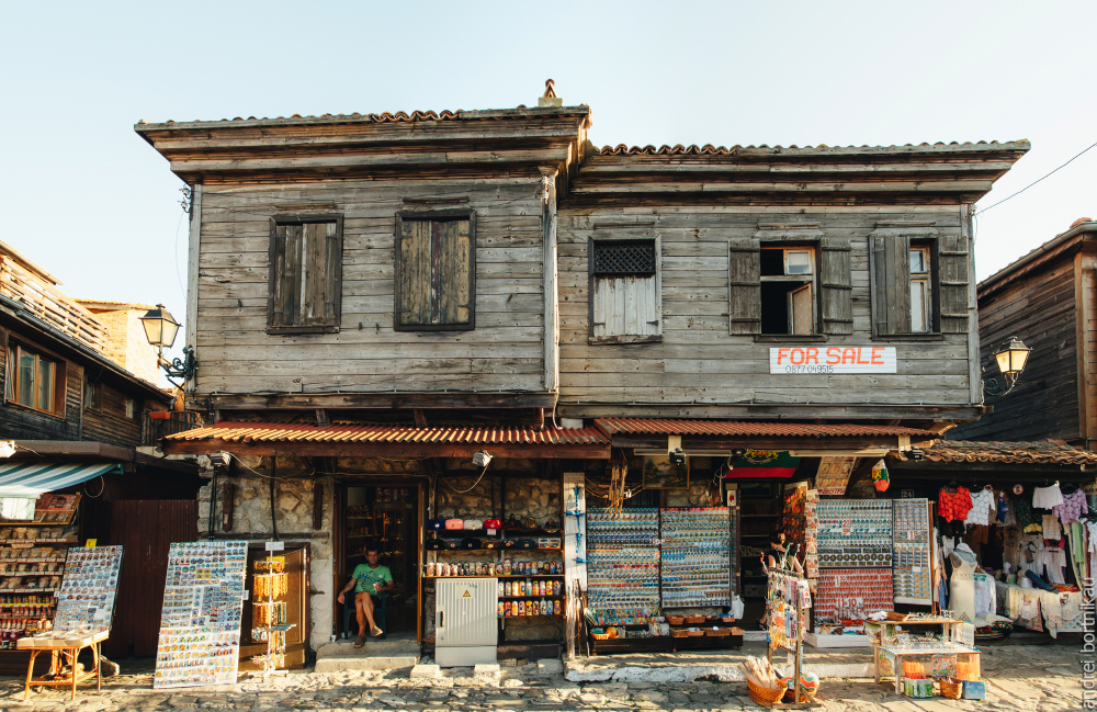
[{"label": "window with white boarded lower half and dark lattice top", "polygon": [[663,340],[658,239],[590,240],[590,343]]}]

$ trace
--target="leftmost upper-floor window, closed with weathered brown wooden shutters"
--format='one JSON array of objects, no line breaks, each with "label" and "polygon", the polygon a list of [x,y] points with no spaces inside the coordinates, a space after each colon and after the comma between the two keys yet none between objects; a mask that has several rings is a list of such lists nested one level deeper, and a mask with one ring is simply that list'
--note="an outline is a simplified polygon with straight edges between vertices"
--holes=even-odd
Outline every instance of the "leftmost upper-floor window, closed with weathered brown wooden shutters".
[{"label": "leftmost upper-floor window, closed with weathered brown wooden shutters", "polygon": [[339,330],[342,218],[271,221],[268,334]]}]

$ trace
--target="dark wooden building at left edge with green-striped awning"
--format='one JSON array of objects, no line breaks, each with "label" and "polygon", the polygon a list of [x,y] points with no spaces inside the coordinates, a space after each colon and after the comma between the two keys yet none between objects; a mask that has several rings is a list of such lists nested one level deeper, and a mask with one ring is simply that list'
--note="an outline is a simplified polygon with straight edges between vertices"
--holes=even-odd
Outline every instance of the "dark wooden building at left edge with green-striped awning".
[{"label": "dark wooden building at left edge with green-striped awning", "polygon": [[[136,305],[93,304],[112,312],[140,310]],[[49,541],[55,549],[88,539],[126,546],[128,566],[117,599],[125,614],[115,619],[104,644],[112,656],[155,651],[159,599],[150,602],[156,595],[149,590],[157,585],[162,590],[168,544],[195,536],[200,484],[194,463],[151,454],[155,443],[145,437],[149,423],[185,414],[170,412],[174,394],[108,355],[126,351],[131,368],[155,374],[157,355],[143,332],[101,320],[65,294],[56,278],[0,241],[0,440],[14,447],[14,453],[0,460],[0,498],[26,500],[25,513],[34,515],[50,495],[77,496],[68,527],[46,534],[47,528],[27,525],[5,508],[0,550],[25,546],[30,540]],[[136,361],[142,357],[144,369]],[[21,529],[27,534],[13,541],[12,532]],[[0,557],[10,558],[10,553]],[[49,563],[20,564],[18,570],[13,563],[0,565],[0,588],[19,590],[14,604],[8,601],[0,609],[5,633],[0,669],[25,673],[29,653],[16,653],[9,633],[33,632],[24,624],[35,624],[37,617],[29,621],[29,609],[21,606],[52,594],[52,577],[45,574],[58,561],[65,561],[63,552]]]}]

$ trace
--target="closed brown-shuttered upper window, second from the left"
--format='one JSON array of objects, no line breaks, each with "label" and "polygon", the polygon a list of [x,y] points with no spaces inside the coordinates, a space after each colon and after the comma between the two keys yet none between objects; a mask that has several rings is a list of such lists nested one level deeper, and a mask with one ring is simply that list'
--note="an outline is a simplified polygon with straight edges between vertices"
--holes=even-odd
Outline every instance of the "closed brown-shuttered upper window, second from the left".
[{"label": "closed brown-shuttered upper window, second from the left", "polygon": [[475,327],[473,215],[402,214],[396,239],[396,315],[402,330]]}]

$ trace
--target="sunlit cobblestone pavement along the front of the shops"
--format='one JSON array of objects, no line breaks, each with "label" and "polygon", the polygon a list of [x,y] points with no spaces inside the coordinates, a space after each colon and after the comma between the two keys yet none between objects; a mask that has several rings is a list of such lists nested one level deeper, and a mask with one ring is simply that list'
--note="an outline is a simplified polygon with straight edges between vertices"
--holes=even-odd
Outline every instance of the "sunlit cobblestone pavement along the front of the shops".
[{"label": "sunlit cobblestone pavement along the front of the shops", "polygon": [[[866,652],[867,655],[867,652]],[[734,656],[728,656],[730,660]],[[824,680],[826,712],[885,710],[1058,711],[1088,709],[1083,702],[1082,658],[1076,645],[1010,645],[984,648],[986,702],[943,698],[912,700],[893,693],[893,685],[871,679]],[[22,680],[0,678],[3,712],[199,712],[204,710],[315,710],[366,712],[408,709],[433,712],[538,712],[550,710],[757,710],[744,682],[695,680],[689,683],[566,681],[559,674],[539,676],[536,665],[502,667],[498,676],[477,678],[472,668],[453,668],[436,679],[409,679],[409,670],[387,673],[291,673],[262,682],[242,677],[237,685],[176,691],[151,689],[151,663],[122,664],[123,674],[104,681],[103,690],[80,688],[77,699],[60,690],[32,692],[22,701]]]}]

